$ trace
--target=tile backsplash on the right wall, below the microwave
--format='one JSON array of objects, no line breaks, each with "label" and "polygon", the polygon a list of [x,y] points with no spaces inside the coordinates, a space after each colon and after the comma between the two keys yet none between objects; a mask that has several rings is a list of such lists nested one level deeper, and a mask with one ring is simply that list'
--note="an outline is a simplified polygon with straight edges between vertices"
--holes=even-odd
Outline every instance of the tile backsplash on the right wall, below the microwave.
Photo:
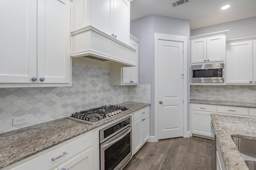
[{"label": "tile backsplash on the right wall, below the microwave", "polygon": [[256,103],[256,86],[190,85],[190,99]]}]

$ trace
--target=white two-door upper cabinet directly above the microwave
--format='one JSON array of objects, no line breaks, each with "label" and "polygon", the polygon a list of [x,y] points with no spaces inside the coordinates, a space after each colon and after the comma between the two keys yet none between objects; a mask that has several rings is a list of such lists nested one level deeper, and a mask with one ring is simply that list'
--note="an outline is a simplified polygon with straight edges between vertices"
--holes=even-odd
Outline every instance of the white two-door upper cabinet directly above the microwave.
[{"label": "white two-door upper cabinet directly above the microwave", "polygon": [[[218,32],[224,34],[226,31]],[[191,63],[222,62],[226,57],[226,35],[198,35],[190,37],[191,40]]]}]

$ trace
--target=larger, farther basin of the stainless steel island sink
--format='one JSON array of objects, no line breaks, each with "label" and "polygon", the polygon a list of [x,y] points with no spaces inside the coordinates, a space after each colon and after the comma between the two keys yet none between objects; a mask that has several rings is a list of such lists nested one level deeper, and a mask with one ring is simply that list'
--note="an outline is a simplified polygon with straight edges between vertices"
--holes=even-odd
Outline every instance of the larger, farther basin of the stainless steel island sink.
[{"label": "larger, farther basin of the stainless steel island sink", "polygon": [[240,153],[256,158],[256,140],[242,137],[232,137],[232,139]]}]

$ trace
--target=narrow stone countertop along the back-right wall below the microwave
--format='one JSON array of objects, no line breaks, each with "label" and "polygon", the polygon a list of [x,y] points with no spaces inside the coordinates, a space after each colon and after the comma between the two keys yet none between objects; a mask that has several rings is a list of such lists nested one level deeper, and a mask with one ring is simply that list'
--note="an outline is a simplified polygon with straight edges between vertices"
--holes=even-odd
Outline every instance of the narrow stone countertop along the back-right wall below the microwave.
[{"label": "narrow stone countertop along the back-right wall below the microwave", "polygon": [[194,103],[194,104],[214,104],[214,105],[222,105],[222,106],[237,106],[237,107],[256,108],[256,103],[243,103],[243,102],[225,102],[225,101],[215,101],[215,100],[190,99],[190,103]]}]

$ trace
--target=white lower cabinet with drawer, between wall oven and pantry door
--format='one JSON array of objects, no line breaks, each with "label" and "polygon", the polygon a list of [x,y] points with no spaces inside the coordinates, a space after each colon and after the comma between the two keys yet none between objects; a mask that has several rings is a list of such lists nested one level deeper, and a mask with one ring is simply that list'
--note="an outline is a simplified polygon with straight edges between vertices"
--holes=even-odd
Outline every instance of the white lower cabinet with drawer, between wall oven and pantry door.
[{"label": "white lower cabinet with drawer, between wall oven and pantry door", "polygon": [[133,154],[149,139],[149,107],[134,113],[133,122]]}]

